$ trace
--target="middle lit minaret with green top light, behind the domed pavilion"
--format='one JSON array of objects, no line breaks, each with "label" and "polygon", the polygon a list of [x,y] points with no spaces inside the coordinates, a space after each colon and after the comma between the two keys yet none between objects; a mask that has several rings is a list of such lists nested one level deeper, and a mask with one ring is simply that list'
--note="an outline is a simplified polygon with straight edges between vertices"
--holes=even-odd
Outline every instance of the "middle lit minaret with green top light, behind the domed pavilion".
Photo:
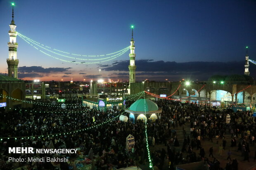
[{"label": "middle lit minaret with green top light, behind the domed pavilion", "polygon": [[134,45],[134,40],[133,40],[133,28],[134,26],[131,26],[132,28],[132,39],[130,40],[130,65],[128,66],[129,68],[129,88],[131,83],[135,83],[135,70],[136,70],[136,65],[135,65],[135,45]]}]

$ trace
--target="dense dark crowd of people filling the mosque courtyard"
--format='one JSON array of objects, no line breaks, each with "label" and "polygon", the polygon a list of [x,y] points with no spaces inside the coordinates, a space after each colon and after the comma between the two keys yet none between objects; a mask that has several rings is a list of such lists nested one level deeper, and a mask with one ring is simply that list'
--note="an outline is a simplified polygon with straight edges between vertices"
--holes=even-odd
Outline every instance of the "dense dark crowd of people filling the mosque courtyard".
[{"label": "dense dark crowd of people filling the mosque courtyard", "polygon": [[[38,100],[38,102],[52,103],[50,100]],[[148,120],[147,132],[150,147],[163,146],[151,152],[154,169],[162,169],[168,160],[168,168],[174,170],[175,166],[185,163],[203,161],[206,169],[218,170],[220,161],[213,154],[218,149],[219,155],[226,150],[226,145],[238,147],[243,161],[250,161],[248,153],[250,145],[254,145],[255,120],[249,112],[237,112],[232,110],[212,110],[201,107],[197,103],[178,102],[172,100],[157,100],[156,104],[162,108],[162,113],[156,121]],[[39,170],[55,169],[51,163],[12,163],[7,158],[25,157],[28,154],[8,154],[8,147],[34,147],[34,148],[80,148],[76,154],[60,155],[69,157],[70,163],[60,163],[61,169],[76,169],[77,157],[82,154],[86,163],[91,163],[93,168],[111,170],[126,168],[132,165],[148,163],[148,154],[145,138],[145,123],[143,121],[123,122],[115,119],[110,123],[92,128],[92,130],[78,131],[72,135],[62,134],[47,137],[49,134],[63,133],[72,130],[87,128],[102,123],[121,114],[122,110],[99,111],[79,105],[80,99],[69,100],[67,103],[78,104],[74,107],[41,106],[33,108],[13,110],[0,113],[0,136],[31,136],[28,138],[10,138],[0,141],[0,169],[12,169],[15,166],[28,165]],[[129,106],[132,102],[127,102]],[[230,123],[225,123],[227,114],[230,114]],[[185,125],[190,125],[190,132]],[[183,130],[180,135],[177,128]],[[35,138],[35,135],[44,137]],[[133,135],[135,146],[129,151],[126,149],[126,137]],[[226,136],[232,136],[229,142]],[[183,140],[181,140],[183,139]],[[182,141],[182,142],[181,142]],[[210,147],[209,151],[202,147],[202,142],[216,142],[217,147]],[[239,144],[237,144],[239,143]],[[32,157],[35,155],[31,155]],[[40,154],[40,157],[57,155]],[[82,156],[82,157],[83,157]],[[213,157],[211,161],[210,157]],[[255,158],[254,158],[255,159]],[[232,152],[227,151],[227,170],[237,170],[238,161],[232,159]]]}]

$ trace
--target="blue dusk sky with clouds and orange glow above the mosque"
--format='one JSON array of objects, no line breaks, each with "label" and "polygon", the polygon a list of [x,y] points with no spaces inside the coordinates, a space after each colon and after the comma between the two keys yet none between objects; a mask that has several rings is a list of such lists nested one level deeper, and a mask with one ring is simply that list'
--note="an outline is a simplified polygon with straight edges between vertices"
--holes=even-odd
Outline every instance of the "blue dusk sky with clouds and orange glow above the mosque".
[{"label": "blue dusk sky with clouds and orange glow above the mosque", "polygon": [[[244,73],[245,47],[256,60],[255,0],[0,0],[0,73],[7,72],[7,42],[15,2],[16,30],[48,47],[100,55],[130,45],[134,25],[136,80],[207,80]],[[99,64],[65,63],[17,37],[19,78],[128,80],[129,51]],[[59,57],[58,55],[53,55]],[[66,58],[64,58],[66,59]],[[250,63],[251,76],[256,65]]]}]

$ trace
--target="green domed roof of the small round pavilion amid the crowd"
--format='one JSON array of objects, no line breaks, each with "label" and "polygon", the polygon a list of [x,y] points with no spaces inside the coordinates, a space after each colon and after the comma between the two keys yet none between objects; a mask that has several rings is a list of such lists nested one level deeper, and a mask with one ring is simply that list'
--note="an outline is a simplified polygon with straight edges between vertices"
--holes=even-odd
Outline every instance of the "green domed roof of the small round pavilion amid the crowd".
[{"label": "green domed roof of the small round pavilion amid the crowd", "polygon": [[[146,109],[145,109],[146,105]],[[131,106],[130,109],[131,111],[134,112],[150,112],[150,111],[156,111],[158,110],[158,106],[156,105],[155,102],[149,100],[149,99],[140,99],[134,102]]]}]

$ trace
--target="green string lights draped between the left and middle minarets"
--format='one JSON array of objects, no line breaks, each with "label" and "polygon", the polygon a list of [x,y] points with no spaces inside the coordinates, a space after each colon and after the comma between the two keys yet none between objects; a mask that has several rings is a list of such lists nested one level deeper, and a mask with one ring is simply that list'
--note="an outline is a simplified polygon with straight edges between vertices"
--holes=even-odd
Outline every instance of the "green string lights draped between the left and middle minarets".
[{"label": "green string lights draped between the left and middle minarets", "polygon": [[[32,40],[32,39],[26,37],[25,35],[22,35],[21,33],[18,33],[18,32],[17,32],[17,35],[18,35],[19,37],[21,37],[23,40],[26,39],[26,40],[32,42],[33,44],[38,45],[38,47],[41,47],[41,48],[43,48],[43,49],[46,49],[46,48],[42,47],[42,46],[45,46],[45,45],[40,44],[39,42],[36,42],[35,40]],[[26,42],[27,42],[27,41],[26,41]],[[28,44],[30,44],[30,43],[28,43]],[[45,46],[45,47],[47,47],[46,50],[52,49],[51,47],[48,47],[48,46]],[[126,48],[124,48],[124,49],[122,49],[122,50],[119,50],[119,51],[116,51],[116,52],[114,52],[114,53],[102,54],[102,55],[83,55],[83,54],[71,54],[71,55],[74,55],[74,56],[85,56],[85,57],[109,56],[109,55],[112,55],[112,54],[116,54],[116,53],[118,53],[118,52],[121,52],[121,51],[123,51],[123,50],[125,50],[125,49],[127,49],[127,48],[129,48],[129,47],[126,47]],[[62,52],[62,53],[64,53],[64,54],[70,54],[69,52],[61,51],[61,50],[58,50],[58,49],[54,49],[54,50],[55,50],[55,51]],[[54,51],[51,51],[51,52],[55,53]],[[58,54],[58,53],[55,53],[55,54]],[[58,54],[58,55],[62,56],[62,54]],[[67,56],[67,57],[68,57],[68,56]],[[78,60],[79,60],[79,58],[74,58],[74,59],[78,59]],[[83,59],[83,58],[80,58],[80,59],[81,59],[81,60],[85,60],[85,59]]]}]

